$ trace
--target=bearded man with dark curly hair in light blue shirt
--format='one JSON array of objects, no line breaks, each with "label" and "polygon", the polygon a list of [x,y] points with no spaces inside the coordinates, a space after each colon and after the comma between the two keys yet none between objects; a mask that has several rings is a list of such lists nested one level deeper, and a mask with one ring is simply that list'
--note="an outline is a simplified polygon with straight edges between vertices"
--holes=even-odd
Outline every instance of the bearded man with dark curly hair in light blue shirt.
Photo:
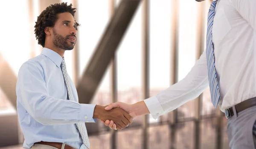
[{"label": "bearded man with dark curly hair in light blue shirt", "polygon": [[80,104],[64,52],[76,44],[79,23],[72,4],[56,3],[38,16],[35,37],[42,53],[20,67],[17,77],[17,114],[26,149],[89,149],[85,123],[113,120],[117,129],[132,123],[123,109]]}]

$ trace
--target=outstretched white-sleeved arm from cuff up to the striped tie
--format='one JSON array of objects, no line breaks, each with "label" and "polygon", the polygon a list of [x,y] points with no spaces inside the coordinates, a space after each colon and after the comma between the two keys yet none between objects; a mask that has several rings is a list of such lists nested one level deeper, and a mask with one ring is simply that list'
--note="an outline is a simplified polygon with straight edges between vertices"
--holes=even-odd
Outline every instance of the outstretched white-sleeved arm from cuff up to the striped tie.
[{"label": "outstretched white-sleeved arm from cuff up to the striped tie", "polygon": [[157,95],[144,100],[154,118],[177,109],[207,89],[209,81],[206,62],[204,52],[185,78]]}]

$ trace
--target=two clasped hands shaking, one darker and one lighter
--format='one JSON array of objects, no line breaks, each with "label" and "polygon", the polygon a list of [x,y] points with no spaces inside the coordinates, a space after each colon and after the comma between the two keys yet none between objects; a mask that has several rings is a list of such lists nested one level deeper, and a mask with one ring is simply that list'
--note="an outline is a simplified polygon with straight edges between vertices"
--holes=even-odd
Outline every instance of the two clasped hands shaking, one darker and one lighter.
[{"label": "two clasped hands shaking, one darker and one lighter", "polygon": [[121,130],[131,124],[135,117],[146,114],[149,114],[149,111],[144,101],[134,104],[116,102],[108,106],[96,105],[93,118],[100,119],[111,129]]}]

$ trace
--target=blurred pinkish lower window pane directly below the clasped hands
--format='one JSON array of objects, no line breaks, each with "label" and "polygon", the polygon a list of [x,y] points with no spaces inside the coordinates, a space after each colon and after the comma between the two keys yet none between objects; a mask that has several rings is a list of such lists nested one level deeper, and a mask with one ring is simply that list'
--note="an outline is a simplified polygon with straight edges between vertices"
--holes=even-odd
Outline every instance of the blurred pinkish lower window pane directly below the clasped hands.
[{"label": "blurred pinkish lower window pane directly below the clasped hands", "polygon": [[116,139],[117,149],[142,149],[141,136],[141,129],[118,131]]}]

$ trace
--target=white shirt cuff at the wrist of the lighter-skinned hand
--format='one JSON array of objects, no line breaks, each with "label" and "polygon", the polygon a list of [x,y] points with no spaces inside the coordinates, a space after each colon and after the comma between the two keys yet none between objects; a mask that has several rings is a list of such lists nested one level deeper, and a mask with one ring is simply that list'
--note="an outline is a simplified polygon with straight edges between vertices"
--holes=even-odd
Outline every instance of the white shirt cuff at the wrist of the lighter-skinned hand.
[{"label": "white shirt cuff at the wrist of the lighter-skinned hand", "polygon": [[143,101],[145,102],[146,106],[148,107],[148,111],[154,119],[157,119],[157,117],[162,115],[162,113],[164,112],[156,96],[149,97]]}]

